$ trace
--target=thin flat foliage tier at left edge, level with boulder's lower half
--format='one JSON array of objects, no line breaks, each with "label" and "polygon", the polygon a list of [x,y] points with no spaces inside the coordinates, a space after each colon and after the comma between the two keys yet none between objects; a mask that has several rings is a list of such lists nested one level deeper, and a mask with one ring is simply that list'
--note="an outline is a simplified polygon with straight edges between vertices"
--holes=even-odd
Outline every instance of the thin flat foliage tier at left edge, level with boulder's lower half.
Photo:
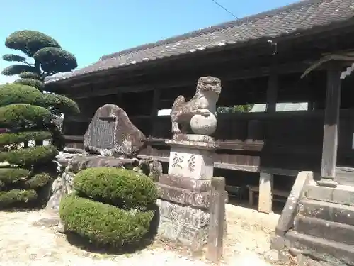
[{"label": "thin flat foliage tier at left edge, level with boulder's lower half", "polygon": [[48,131],[24,131],[18,133],[0,134],[0,147],[8,144],[18,144],[30,140],[50,140],[52,133]]}]

